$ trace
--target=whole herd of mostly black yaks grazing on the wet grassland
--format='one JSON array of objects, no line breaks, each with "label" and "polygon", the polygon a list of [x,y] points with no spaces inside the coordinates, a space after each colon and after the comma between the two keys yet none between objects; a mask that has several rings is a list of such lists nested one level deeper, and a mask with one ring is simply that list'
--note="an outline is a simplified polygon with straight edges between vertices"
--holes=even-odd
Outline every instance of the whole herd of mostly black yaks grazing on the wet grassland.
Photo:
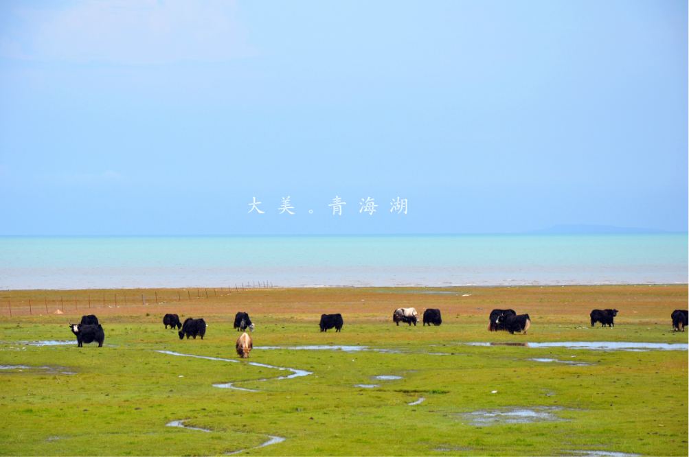
[{"label": "whole herd of mostly black yaks grazing on the wet grassland", "polygon": [[[615,326],[615,316],[617,316],[617,310],[593,310],[590,313],[591,317],[591,327],[595,326],[595,323],[600,322],[601,327],[614,327]],[[675,310],[672,312],[672,330],[679,332],[684,331],[684,327],[688,325],[687,319],[689,317],[689,312],[687,310]],[[392,315],[393,322],[398,326],[400,322],[408,323],[409,326],[413,323],[419,321],[419,314],[414,308],[398,308],[393,312]],[[342,320],[341,314],[333,315],[321,315],[320,316],[320,326],[321,332],[327,332],[331,328],[335,328],[336,332],[342,330],[342,326],[345,321]],[[424,311],[423,315],[423,325],[428,324],[431,326],[440,326],[442,323],[442,317],[440,315],[440,310],[435,308],[429,308]],[[184,339],[185,335],[187,339],[189,337],[201,337],[203,339],[206,334],[206,322],[203,319],[193,319],[192,317],[187,317],[184,323],[179,321],[179,317],[176,314],[166,314],[163,317],[163,324],[165,328],[167,326],[170,328],[177,328],[179,330],[179,339]],[[517,315],[514,310],[493,310],[489,317],[488,330],[491,332],[506,331],[514,334],[515,332],[523,332],[526,334],[531,326],[531,319],[528,314]],[[249,334],[245,332],[247,328],[254,331],[254,323],[249,319],[249,315],[246,312],[238,312],[234,317],[234,328],[238,331],[243,332],[241,336],[237,339],[236,350],[237,354],[243,358],[249,358],[249,351],[254,348],[254,341],[251,339]],[[81,323],[72,324],[70,323],[70,329],[72,333],[76,335],[76,341],[79,348],[83,346],[83,343],[93,343],[98,342],[98,347],[103,346],[103,341],[105,340],[105,332],[103,332],[103,327],[98,321],[98,317],[94,315],[82,316]]]}]

